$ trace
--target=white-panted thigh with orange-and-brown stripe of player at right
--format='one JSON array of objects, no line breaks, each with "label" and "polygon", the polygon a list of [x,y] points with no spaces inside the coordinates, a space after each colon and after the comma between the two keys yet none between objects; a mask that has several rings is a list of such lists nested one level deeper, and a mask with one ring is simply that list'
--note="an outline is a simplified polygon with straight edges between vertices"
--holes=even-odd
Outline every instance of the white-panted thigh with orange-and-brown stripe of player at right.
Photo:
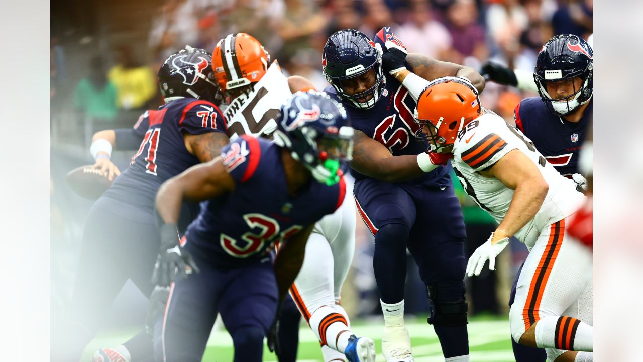
[{"label": "white-panted thigh with orange-and-brown stripe of player at right", "polygon": [[592,253],[566,235],[565,220],[543,229],[516,285],[509,314],[514,339],[540,318],[563,315],[578,303],[591,278]]}]

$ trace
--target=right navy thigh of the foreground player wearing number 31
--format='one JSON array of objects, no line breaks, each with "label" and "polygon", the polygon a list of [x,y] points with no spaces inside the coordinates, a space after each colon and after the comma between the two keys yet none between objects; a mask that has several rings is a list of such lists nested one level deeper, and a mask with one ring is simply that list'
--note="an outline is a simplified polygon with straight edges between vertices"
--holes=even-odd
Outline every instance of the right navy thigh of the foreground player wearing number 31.
[{"label": "right navy thigh of the foreground player wearing number 31", "polygon": [[276,316],[278,290],[271,262],[235,270],[219,300],[219,314],[226,329],[234,334],[242,327],[259,327],[267,332]]}]

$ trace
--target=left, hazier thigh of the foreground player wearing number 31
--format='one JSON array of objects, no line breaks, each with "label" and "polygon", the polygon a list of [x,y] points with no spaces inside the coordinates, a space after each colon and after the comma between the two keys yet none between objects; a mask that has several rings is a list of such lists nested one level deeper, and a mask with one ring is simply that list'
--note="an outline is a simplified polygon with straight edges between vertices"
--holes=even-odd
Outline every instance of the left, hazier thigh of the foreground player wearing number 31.
[{"label": "left, hazier thigh of the foreground player wearing number 31", "polygon": [[170,288],[162,327],[157,330],[161,335],[154,336],[157,360],[165,356],[168,362],[201,361],[217,316],[221,285],[229,277],[208,263],[199,263],[199,269]]}]

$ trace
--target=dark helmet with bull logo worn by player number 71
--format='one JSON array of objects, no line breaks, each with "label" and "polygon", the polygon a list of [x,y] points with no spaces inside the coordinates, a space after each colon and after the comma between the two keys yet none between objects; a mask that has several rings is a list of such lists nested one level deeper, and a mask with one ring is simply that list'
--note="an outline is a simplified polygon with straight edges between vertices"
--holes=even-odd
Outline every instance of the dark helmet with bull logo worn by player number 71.
[{"label": "dark helmet with bull logo worn by player number 71", "polygon": [[192,97],[219,105],[222,94],[212,69],[212,54],[186,46],[170,55],[158,73],[163,98]]}]

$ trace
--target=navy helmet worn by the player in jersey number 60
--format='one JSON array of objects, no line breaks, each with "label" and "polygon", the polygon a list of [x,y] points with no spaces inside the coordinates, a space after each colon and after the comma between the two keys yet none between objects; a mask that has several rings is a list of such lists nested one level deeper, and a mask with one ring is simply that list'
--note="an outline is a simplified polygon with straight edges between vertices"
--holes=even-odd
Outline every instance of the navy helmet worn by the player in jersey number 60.
[{"label": "navy helmet worn by the player in jersey number 60", "polygon": [[[384,89],[386,80],[382,70],[381,50],[376,48],[366,34],[357,30],[344,29],[333,33],[323,48],[321,65],[326,80],[335,88],[338,97],[348,100],[356,108],[367,109],[374,106]],[[372,87],[356,94],[346,93],[343,82],[370,70],[374,71],[376,77]]]}]

